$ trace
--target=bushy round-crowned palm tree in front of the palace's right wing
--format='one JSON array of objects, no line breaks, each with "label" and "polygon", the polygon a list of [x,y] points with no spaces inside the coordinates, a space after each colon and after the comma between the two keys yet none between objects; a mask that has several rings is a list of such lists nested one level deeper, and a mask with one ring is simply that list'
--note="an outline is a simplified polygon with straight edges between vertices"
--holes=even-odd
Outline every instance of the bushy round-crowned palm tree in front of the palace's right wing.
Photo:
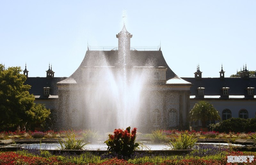
[{"label": "bushy round-crowned palm tree in front of the palace's right wing", "polygon": [[206,127],[207,120],[220,120],[219,112],[207,101],[199,101],[189,112],[191,121],[202,121],[202,127]]}]

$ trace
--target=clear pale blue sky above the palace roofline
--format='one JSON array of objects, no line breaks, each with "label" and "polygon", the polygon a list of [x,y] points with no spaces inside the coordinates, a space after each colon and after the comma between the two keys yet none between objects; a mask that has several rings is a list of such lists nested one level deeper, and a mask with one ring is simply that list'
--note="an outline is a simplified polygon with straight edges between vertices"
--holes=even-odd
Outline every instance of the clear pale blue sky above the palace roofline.
[{"label": "clear pale blue sky above the palace roofline", "polygon": [[158,46],[180,77],[256,70],[256,1],[0,0],[0,62],[68,77],[91,46],[117,46],[125,13],[131,46]]}]

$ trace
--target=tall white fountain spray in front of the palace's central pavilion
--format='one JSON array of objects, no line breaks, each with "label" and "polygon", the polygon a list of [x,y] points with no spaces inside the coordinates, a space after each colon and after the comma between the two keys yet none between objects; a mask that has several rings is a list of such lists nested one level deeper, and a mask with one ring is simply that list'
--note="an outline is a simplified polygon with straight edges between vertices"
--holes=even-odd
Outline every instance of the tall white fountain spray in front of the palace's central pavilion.
[{"label": "tall white fountain spray in front of the palace's central pavilion", "polygon": [[[106,51],[89,51],[86,60],[73,75],[76,86],[69,86],[68,125],[72,127],[83,123],[88,128],[100,131],[113,131],[115,128],[136,127],[141,109],[145,109],[148,80],[152,79],[153,63],[135,66],[130,57],[130,38],[125,25],[118,38],[118,51],[114,59],[106,56]],[[110,51],[111,52],[111,51]],[[82,76],[81,76],[82,75]],[[151,95],[153,96],[153,95]],[[156,96],[154,96],[156,97]],[[77,102],[81,104],[77,104]],[[74,104],[75,103],[75,104]],[[89,111],[88,111],[89,110]],[[144,116],[144,115],[143,115]],[[83,126],[82,126],[83,127]]]}]

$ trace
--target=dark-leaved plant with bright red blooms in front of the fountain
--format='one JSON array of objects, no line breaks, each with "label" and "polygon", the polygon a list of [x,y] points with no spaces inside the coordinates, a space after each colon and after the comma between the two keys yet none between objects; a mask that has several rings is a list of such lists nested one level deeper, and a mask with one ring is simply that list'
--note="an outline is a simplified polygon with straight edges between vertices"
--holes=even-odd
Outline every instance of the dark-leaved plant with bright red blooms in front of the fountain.
[{"label": "dark-leaved plant with bright red blooms in front of the fountain", "polygon": [[131,127],[123,129],[115,129],[114,135],[109,134],[108,140],[104,143],[108,146],[110,153],[116,153],[123,157],[130,157],[133,151],[139,148],[139,143],[135,143],[137,128],[132,129]]}]

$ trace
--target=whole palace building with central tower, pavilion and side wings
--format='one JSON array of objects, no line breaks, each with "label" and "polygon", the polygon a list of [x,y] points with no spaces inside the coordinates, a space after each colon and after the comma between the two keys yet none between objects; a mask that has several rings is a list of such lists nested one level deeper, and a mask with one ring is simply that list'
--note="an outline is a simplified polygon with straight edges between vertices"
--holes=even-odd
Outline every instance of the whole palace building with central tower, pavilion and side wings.
[{"label": "whole palace building with central tower, pavilion and side wings", "polygon": [[[125,26],[116,38],[118,47],[109,50],[88,47],[69,77],[54,77],[50,65],[46,77],[29,77],[25,66],[29,93],[36,103],[51,109],[56,129],[113,130],[127,124],[143,131],[184,127],[199,100],[213,104],[222,120],[255,118],[256,77],[246,66],[240,77],[225,77],[221,66],[220,77],[204,78],[198,66],[194,77],[180,78],[166,63],[161,47],[131,47],[132,34]],[[208,124],[214,122],[218,121]]]}]

